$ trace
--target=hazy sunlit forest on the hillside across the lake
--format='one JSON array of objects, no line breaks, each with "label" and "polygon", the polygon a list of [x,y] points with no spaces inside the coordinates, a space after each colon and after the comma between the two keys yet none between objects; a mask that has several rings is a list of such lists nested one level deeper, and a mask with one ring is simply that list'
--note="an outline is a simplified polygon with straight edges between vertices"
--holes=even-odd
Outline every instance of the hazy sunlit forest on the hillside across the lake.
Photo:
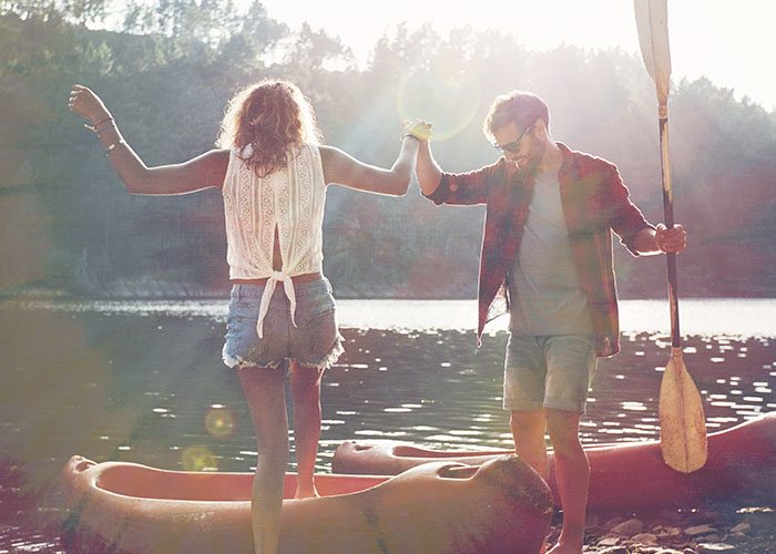
[{"label": "hazy sunlit forest on the hillside across the lake", "polygon": [[[258,1],[132,0],[116,12],[105,0],[0,0],[2,298],[226,295],[219,193],[130,195],[68,93],[96,91],[151,166],[214,147],[228,99],[264,78],[297,83],[325,142],[367,163],[392,163],[402,120],[433,122],[435,157],[451,172],[498,157],[481,131],[496,95],[535,92],[555,140],[616,163],[647,219],[663,218],[655,90],[635,54],[404,24],[359,65],[339,38],[292,30]],[[690,233],[681,295],[776,297],[776,114],[703,78],[674,81],[670,110],[675,215]],[[483,209],[437,207],[416,183],[401,198],[327,196],[336,296],[476,297]],[[664,297],[662,257],[614,248],[621,297]]]}]

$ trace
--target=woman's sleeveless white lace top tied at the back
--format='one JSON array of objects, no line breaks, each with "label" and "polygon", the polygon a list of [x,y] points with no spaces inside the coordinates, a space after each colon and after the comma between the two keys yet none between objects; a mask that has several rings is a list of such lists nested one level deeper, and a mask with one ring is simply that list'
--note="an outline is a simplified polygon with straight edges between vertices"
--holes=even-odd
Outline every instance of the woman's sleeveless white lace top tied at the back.
[{"label": "woman's sleeveless white lace top tied at the back", "polygon": [[[257,324],[258,336],[263,337],[262,324],[277,283],[283,283],[294,321],[296,297],[289,277],[323,268],[326,183],[316,144],[292,147],[287,165],[266,177],[259,177],[245,163],[243,156],[248,155],[246,150],[242,156],[232,150],[222,187],[226,260],[231,279],[268,278]],[[276,227],[283,258],[280,271],[273,270]]]}]

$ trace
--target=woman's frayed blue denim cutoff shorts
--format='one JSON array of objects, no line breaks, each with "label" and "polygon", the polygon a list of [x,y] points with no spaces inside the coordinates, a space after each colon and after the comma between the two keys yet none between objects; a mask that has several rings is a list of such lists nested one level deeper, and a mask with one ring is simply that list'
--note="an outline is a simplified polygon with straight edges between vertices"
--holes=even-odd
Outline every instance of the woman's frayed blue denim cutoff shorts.
[{"label": "woman's frayed blue denim cutoff shorts", "polygon": [[331,285],[325,277],[294,285],[296,311],[278,284],[264,318],[263,338],[256,322],[265,285],[233,285],[226,341],[222,357],[229,368],[286,368],[286,360],[300,366],[328,369],[343,353]]}]

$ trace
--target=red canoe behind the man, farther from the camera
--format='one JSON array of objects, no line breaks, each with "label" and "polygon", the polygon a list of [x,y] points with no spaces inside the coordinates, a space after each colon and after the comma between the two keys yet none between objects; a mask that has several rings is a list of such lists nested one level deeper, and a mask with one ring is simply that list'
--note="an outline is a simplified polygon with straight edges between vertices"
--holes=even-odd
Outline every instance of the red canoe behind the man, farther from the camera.
[{"label": "red canoe behind the man, farther from the camera", "polygon": [[[334,455],[337,473],[396,474],[428,462],[483,463],[506,451],[450,452],[395,441],[348,441]],[[714,502],[774,505],[776,502],[776,412],[708,435],[708,460],[678,473],[662,458],[657,441],[585,448],[591,479],[589,511],[653,511]],[[552,453],[550,454],[552,462]],[[550,464],[552,468],[554,464]],[[550,488],[558,505],[555,478]]]}]

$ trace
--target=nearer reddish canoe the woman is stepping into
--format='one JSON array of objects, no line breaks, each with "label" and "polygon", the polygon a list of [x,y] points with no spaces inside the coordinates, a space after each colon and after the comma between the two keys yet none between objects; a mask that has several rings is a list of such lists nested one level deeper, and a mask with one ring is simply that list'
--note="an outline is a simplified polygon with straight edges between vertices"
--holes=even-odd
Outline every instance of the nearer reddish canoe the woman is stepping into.
[{"label": "nearer reddish canoe the woman is stepping into", "polygon": [[[253,473],[165,471],[73,456],[63,470],[72,552],[253,552]],[[397,476],[316,475],[319,499],[285,480],[283,553],[532,553],[552,494],[515,455],[481,466],[436,462]]]}]

